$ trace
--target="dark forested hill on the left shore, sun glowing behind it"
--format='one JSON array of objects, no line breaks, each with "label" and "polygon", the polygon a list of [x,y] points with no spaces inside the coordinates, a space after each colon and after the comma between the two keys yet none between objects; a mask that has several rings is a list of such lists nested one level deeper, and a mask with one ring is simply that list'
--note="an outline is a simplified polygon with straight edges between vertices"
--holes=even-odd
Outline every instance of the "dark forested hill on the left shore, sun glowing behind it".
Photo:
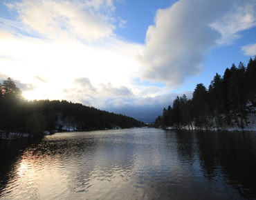
[{"label": "dark forested hill on the left shore, sun glowing behind it", "polygon": [[143,123],[81,103],[65,100],[26,101],[15,82],[8,78],[0,84],[0,131],[16,134],[42,134],[62,130],[104,130],[141,127]]}]

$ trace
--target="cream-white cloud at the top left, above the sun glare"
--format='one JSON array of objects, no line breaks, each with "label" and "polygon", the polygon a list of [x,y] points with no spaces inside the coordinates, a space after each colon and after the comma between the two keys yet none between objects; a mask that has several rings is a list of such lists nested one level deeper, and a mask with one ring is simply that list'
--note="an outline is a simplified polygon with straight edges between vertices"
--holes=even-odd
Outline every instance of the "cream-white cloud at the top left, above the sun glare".
[{"label": "cream-white cloud at the top left, above the sun glare", "polygon": [[[18,19],[28,30],[35,30],[48,37],[69,36],[93,41],[110,37],[115,29],[110,15],[115,8],[109,0],[24,0],[21,3],[6,3],[6,6],[17,10]],[[104,14],[104,10],[107,13]]]}]

